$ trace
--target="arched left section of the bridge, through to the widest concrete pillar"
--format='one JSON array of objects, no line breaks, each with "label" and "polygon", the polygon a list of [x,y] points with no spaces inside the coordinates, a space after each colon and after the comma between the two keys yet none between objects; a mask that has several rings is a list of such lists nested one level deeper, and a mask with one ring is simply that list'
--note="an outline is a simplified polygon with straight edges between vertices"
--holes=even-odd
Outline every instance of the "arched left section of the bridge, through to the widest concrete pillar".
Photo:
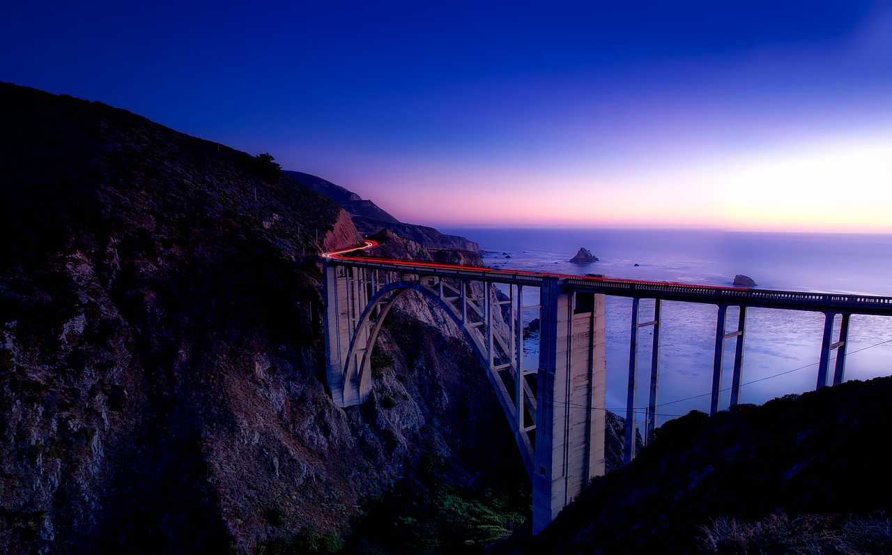
[{"label": "arched left section of the bridge, through to the widest concrete pillar", "polygon": [[[417,291],[462,330],[500,401],[533,485],[533,533],[605,471],[604,295],[576,293],[565,279],[529,272],[326,260],[326,373],[336,404],[372,392],[371,352],[392,306]],[[488,270],[487,270],[488,271]],[[493,284],[509,286],[498,300]],[[538,368],[524,365],[524,288],[539,297]],[[499,323],[510,304],[508,324]],[[495,318],[494,314],[499,314]]]}]

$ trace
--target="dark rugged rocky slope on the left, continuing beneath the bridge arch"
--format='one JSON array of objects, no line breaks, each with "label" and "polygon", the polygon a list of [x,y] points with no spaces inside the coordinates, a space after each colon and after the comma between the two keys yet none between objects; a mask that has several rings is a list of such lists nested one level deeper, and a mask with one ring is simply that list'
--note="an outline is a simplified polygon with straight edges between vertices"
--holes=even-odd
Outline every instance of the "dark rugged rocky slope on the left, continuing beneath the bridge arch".
[{"label": "dark rugged rocky slope on the left, continuing beneath the bridge arch", "polygon": [[101,103],[2,84],[0,120],[0,551],[287,551],[406,479],[518,490],[433,317],[394,313],[373,398],[331,402],[316,254],[359,242],[335,203]]}]

